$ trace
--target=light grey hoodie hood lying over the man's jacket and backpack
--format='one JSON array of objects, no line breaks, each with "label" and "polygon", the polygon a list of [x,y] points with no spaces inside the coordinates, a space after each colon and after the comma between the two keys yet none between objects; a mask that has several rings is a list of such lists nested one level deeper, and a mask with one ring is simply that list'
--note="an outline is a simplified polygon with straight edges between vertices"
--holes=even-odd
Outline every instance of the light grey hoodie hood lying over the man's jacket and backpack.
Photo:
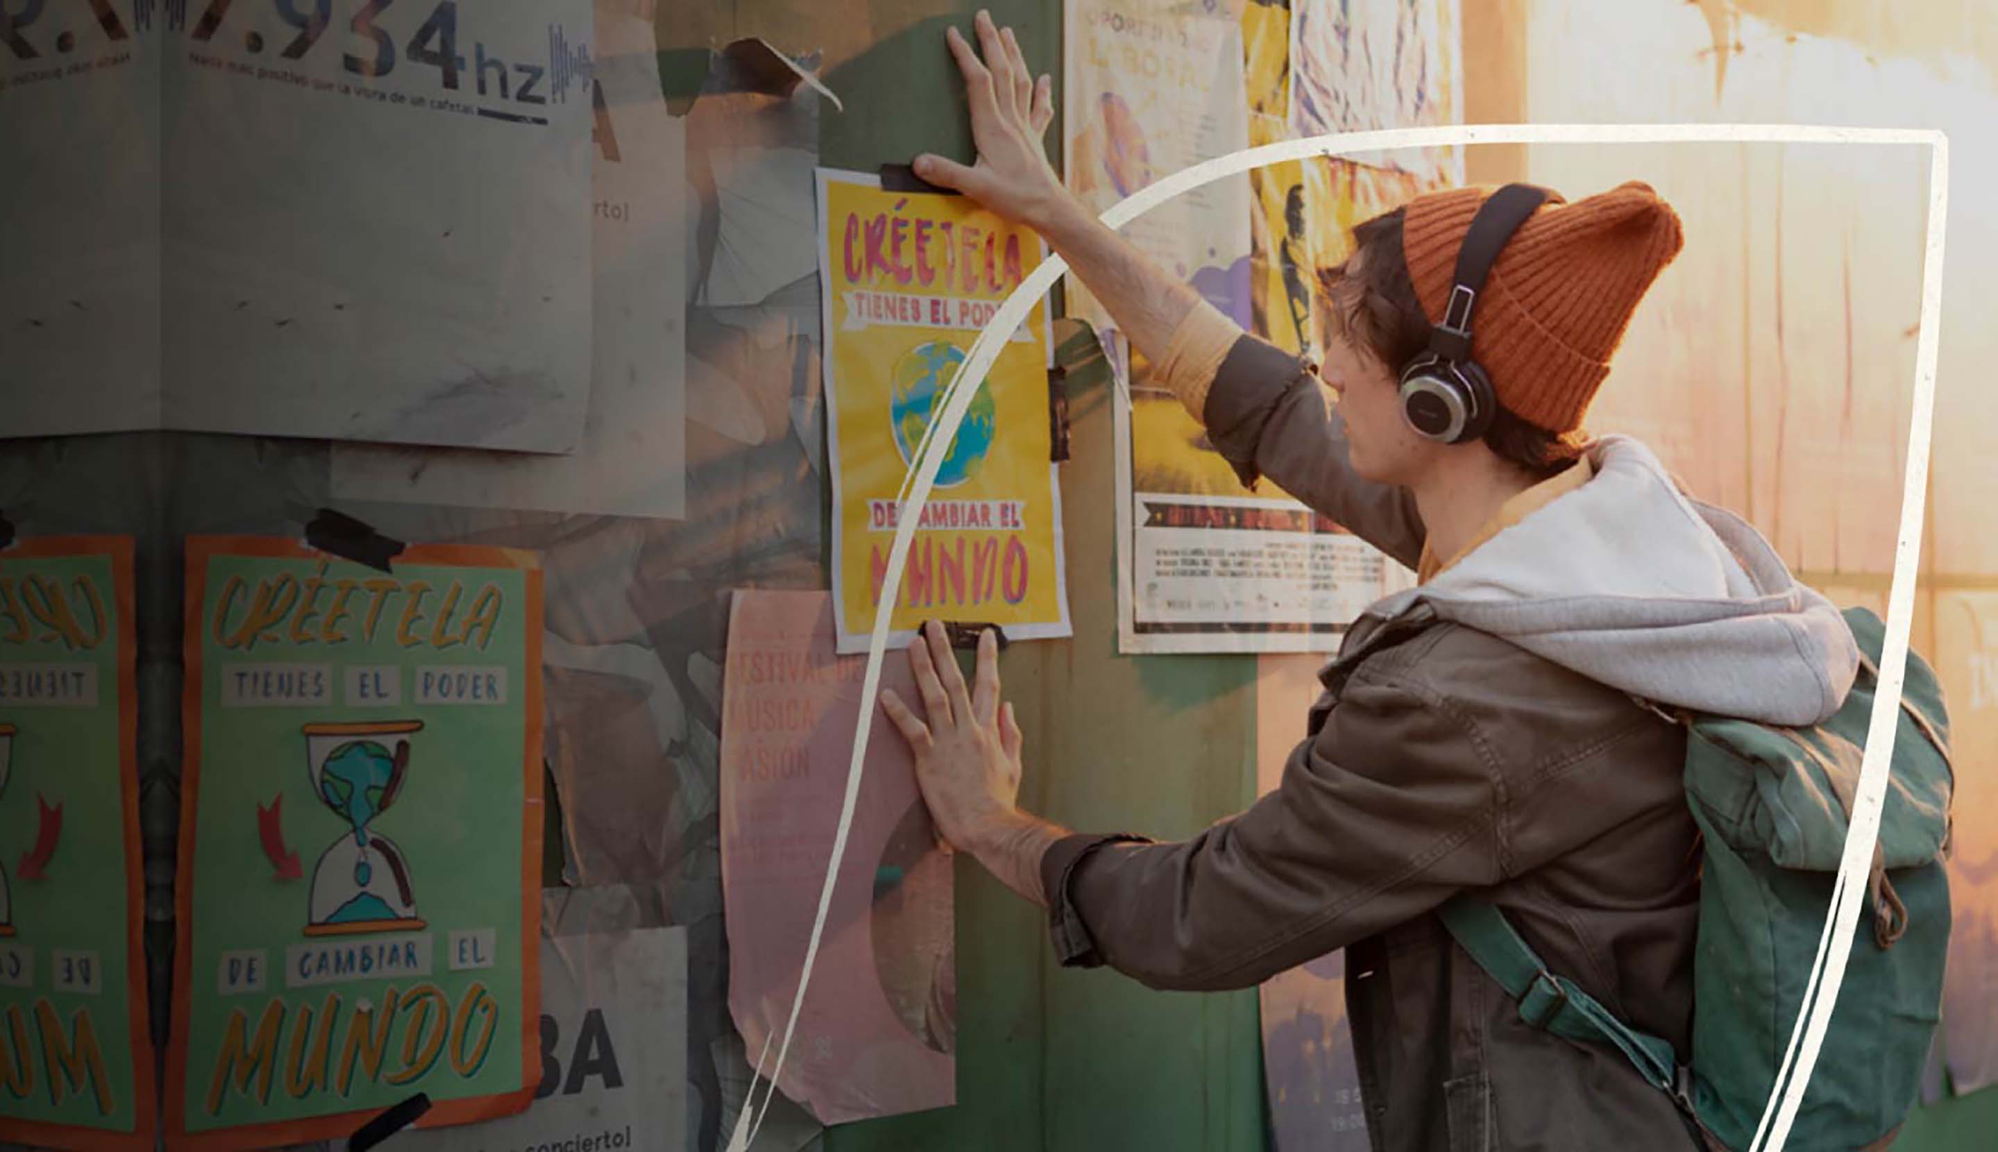
[{"label": "light grey hoodie hood lying over the man's jacket and backpack", "polygon": [[1686,499],[1642,443],[1606,435],[1594,475],[1369,615],[1427,603],[1644,701],[1774,725],[1844,705],[1858,645],[1738,515]]}]

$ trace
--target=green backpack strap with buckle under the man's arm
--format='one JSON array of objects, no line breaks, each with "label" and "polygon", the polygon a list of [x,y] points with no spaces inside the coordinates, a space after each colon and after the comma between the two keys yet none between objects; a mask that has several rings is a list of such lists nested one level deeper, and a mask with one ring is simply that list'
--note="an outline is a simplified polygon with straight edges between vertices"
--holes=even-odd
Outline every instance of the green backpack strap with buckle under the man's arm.
[{"label": "green backpack strap with buckle under the man's arm", "polygon": [[1437,916],[1471,958],[1518,1002],[1522,1020],[1568,1040],[1610,1044],[1652,1088],[1670,1094],[1686,1114],[1692,1114],[1690,1082],[1672,1046],[1630,1028],[1574,982],[1548,972],[1495,904],[1461,894],[1437,908]]}]

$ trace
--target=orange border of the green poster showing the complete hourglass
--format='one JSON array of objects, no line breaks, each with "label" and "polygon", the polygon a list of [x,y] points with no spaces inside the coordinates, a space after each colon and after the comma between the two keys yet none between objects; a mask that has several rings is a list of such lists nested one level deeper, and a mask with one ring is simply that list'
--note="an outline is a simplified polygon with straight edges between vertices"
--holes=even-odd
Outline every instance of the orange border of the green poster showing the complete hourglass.
[{"label": "orange border of the green poster showing the complete hourglass", "polygon": [[[180,769],[180,845],[174,872],[174,992],[168,1026],[166,1062],[166,1146],[172,1152],[254,1152],[274,1144],[306,1144],[340,1140],[354,1134],[380,1110],[332,1112],[300,1120],[242,1124],[188,1132],[188,1018],[192,1012],[194,966],[194,819],[200,795],[202,763],[202,601],[206,599],[208,561],[216,557],[256,559],[334,559],[330,553],[284,537],[186,537],[186,601],[182,633],[182,769]],[[523,773],[525,805],[521,813],[521,914],[519,914],[519,982],[521,982],[521,1086],[494,1096],[440,1100],[418,1120],[416,1128],[442,1128],[496,1120],[523,1112],[533,1102],[541,1068],[541,561],[535,553],[488,545],[408,545],[394,557],[408,565],[515,569],[525,575],[527,605],[521,645],[525,673]]]}]

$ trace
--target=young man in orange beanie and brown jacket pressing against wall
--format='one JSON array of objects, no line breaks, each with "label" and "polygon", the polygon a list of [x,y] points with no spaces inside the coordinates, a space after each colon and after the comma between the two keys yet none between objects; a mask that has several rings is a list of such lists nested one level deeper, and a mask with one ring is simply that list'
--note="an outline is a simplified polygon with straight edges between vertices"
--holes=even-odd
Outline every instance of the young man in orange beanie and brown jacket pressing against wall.
[{"label": "young man in orange beanie and brown jacket pressing against wall", "polygon": [[1786,725],[1842,703],[1858,653],[1738,517],[1686,499],[1656,457],[1588,441],[1582,415],[1678,218],[1642,184],[1542,204],[1479,293],[1473,357],[1500,415],[1443,443],[1399,377],[1451,295],[1483,190],[1423,196],[1355,230],[1325,278],[1323,381],[1243,335],[1065,194],[1049,90],[979,14],[949,34],[977,166],[917,172],[1025,222],[1105,301],[1245,479],[1269,475],[1423,585],[1373,605],[1281,787],[1185,843],[1077,837],[1021,813],[1019,729],[993,643],[965,685],[941,635],[883,697],[945,839],[1049,906],[1063,964],[1159,988],[1241,988],[1347,948],[1377,1148],[1692,1148],[1622,1054],[1532,1028],[1435,908],[1477,890],[1548,968],[1690,1048],[1696,839],[1684,731],[1646,705]]}]

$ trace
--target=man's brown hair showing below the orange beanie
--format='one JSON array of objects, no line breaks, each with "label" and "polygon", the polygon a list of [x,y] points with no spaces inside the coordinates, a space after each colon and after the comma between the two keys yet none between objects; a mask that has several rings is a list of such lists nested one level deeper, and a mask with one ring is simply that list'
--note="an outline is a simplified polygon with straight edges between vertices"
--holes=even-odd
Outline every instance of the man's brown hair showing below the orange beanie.
[{"label": "man's brown hair showing below the orange beanie", "polygon": [[[1319,270],[1319,289],[1349,339],[1357,339],[1393,371],[1429,347],[1429,315],[1415,297],[1409,264],[1401,248],[1403,210],[1383,212],[1353,228],[1353,256],[1345,264]],[[1353,276],[1349,266],[1359,260]],[[1485,445],[1498,459],[1546,479],[1572,463],[1588,437],[1558,435],[1534,427],[1502,405],[1485,429]]]}]

